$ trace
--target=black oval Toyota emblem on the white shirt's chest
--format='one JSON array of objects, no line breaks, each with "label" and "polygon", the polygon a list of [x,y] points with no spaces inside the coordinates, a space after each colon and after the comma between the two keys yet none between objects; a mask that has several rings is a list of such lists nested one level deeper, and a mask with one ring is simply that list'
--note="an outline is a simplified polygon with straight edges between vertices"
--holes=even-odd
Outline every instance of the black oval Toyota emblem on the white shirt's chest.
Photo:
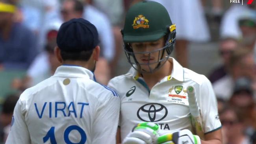
[{"label": "black oval Toyota emblem on the white shirt's chest", "polygon": [[168,114],[167,108],[159,103],[148,103],[140,107],[137,117],[144,122],[159,122]]}]

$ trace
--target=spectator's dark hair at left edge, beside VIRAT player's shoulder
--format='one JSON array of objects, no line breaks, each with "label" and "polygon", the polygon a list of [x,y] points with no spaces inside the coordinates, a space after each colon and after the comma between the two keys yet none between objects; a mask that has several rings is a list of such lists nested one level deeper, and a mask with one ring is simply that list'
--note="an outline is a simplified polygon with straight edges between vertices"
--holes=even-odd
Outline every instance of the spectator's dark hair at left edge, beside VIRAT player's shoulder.
[{"label": "spectator's dark hair at left edge, beside VIRAT player's shoulder", "polygon": [[19,97],[17,95],[15,94],[8,95],[4,100],[2,113],[12,114],[18,100],[19,100]]}]

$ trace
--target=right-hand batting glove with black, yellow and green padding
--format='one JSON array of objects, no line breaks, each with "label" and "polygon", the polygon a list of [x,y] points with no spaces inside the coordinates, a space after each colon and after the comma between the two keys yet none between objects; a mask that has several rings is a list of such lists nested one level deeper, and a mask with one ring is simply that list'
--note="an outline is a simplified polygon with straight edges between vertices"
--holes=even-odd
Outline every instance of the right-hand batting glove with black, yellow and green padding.
[{"label": "right-hand batting glove with black, yellow and green padding", "polygon": [[201,144],[197,135],[193,135],[188,129],[184,129],[173,134],[161,135],[157,140],[158,144]]}]

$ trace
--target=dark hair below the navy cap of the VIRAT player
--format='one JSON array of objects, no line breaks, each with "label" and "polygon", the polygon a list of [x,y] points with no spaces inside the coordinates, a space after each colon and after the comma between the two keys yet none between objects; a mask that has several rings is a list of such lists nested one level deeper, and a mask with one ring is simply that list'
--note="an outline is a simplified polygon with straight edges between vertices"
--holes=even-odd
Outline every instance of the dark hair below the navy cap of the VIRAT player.
[{"label": "dark hair below the navy cap of the VIRAT player", "polygon": [[61,57],[65,60],[73,61],[88,61],[93,54],[93,50],[82,51],[82,52],[65,52],[61,50]]}]

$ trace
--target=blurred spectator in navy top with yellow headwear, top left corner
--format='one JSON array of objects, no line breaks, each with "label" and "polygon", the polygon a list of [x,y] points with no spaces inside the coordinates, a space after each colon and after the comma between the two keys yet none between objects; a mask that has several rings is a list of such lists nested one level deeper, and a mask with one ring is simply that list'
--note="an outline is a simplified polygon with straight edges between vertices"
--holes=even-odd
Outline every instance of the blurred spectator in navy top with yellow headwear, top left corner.
[{"label": "blurred spectator in navy top with yellow headwear, top left corner", "polygon": [[0,67],[26,70],[38,54],[37,39],[22,24],[14,22],[17,7],[0,0]]}]

